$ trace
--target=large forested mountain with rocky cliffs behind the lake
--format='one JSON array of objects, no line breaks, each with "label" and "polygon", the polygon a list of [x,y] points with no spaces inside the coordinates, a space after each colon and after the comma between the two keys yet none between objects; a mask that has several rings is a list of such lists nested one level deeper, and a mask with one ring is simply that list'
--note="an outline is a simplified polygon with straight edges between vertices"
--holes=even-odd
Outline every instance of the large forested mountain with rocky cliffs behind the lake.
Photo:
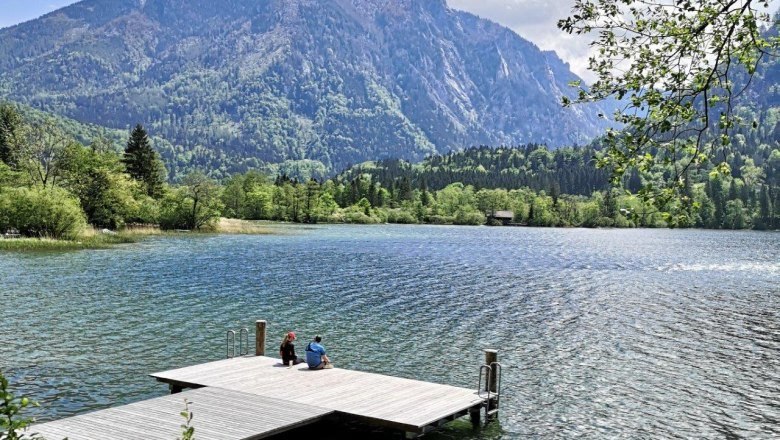
[{"label": "large forested mountain with rocky cliffs behind the lake", "polygon": [[0,99],[141,122],[174,173],[585,143],[611,112],[562,108],[577,79],[444,0],[84,0],[0,30]]}]

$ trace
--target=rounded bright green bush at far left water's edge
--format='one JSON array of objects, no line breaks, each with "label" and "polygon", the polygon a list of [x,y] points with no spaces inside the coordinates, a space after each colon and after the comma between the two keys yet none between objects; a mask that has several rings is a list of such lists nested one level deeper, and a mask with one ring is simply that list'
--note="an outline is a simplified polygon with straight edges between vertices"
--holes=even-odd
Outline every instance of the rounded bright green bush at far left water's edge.
[{"label": "rounded bright green bush at far left water's edge", "polygon": [[0,194],[0,231],[74,239],[87,224],[79,201],[60,188],[12,188]]}]

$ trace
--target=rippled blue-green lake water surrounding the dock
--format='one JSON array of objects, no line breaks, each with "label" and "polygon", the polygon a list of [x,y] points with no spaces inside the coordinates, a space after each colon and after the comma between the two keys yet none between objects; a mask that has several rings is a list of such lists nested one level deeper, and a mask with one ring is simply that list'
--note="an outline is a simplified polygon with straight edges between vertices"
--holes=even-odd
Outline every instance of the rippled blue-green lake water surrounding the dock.
[{"label": "rippled blue-green lake water surrounding the dock", "polygon": [[468,388],[498,349],[498,423],[434,438],[780,436],[778,233],[280,228],[0,253],[0,369],[50,420],[266,319],[271,352],[320,333],[338,367]]}]

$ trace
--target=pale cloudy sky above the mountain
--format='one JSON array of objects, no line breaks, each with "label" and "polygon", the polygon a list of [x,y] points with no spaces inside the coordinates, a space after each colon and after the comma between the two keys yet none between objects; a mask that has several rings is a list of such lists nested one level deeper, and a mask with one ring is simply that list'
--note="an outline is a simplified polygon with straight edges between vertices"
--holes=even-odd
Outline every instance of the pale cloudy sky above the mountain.
[{"label": "pale cloudy sky above the mountain", "polygon": [[[124,1],[124,0],[116,0]],[[421,0],[425,1],[425,0]],[[0,0],[0,28],[32,20],[75,0]],[[447,0],[455,9],[471,12],[502,24],[544,50],[554,50],[574,73],[588,82],[588,39],[558,30],[556,23],[571,12],[574,0]],[[780,0],[771,0],[777,10]]]}]

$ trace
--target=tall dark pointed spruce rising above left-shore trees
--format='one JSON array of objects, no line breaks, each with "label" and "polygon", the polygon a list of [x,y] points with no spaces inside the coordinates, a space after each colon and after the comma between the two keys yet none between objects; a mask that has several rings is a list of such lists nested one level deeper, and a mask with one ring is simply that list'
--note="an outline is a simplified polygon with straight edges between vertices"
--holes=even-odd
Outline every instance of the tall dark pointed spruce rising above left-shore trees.
[{"label": "tall dark pointed spruce rising above left-shore trees", "polygon": [[141,124],[136,125],[130,133],[122,162],[130,177],[144,185],[146,194],[154,198],[162,197],[165,168],[152,149],[149,136]]}]

